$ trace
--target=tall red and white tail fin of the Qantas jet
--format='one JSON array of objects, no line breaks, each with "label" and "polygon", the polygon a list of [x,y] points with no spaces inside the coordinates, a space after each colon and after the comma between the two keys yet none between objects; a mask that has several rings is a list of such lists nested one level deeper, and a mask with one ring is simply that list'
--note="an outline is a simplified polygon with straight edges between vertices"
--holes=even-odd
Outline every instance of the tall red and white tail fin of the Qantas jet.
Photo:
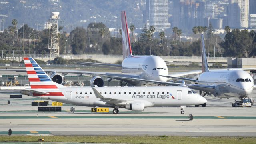
[{"label": "tall red and white tail fin of the Qantas jet", "polygon": [[130,43],[130,36],[128,32],[128,26],[126,21],[126,14],[121,11],[121,22],[122,22],[122,44],[123,44],[123,58],[132,56],[132,48]]}]

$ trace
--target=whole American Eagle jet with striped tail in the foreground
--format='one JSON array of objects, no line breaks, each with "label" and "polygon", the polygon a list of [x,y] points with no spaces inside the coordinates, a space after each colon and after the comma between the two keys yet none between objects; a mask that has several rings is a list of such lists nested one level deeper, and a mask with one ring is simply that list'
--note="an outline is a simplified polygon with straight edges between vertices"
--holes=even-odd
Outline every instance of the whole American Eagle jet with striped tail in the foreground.
[{"label": "whole American Eagle jet with striped tail in the foreground", "polygon": [[[66,87],[53,82],[33,58],[24,58],[31,89],[22,94],[78,106],[144,111],[150,106],[204,104],[205,98],[186,87]],[[181,114],[184,114],[182,107]]]}]

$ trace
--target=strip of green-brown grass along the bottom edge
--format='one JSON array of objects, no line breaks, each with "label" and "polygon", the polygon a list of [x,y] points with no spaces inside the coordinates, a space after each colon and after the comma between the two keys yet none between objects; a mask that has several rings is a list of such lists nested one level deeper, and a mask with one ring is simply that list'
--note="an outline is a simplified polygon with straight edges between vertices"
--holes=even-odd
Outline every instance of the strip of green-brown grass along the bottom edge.
[{"label": "strip of green-brown grass along the bottom edge", "polygon": [[0,142],[81,142],[133,144],[255,144],[250,137],[191,137],[191,136],[0,136]]}]

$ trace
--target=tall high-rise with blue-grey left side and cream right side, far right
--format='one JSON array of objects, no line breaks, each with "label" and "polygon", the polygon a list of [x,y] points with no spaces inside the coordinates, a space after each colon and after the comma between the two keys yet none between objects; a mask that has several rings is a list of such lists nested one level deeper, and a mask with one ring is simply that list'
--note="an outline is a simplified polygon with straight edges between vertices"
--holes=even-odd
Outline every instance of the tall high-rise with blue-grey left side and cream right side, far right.
[{"label": "tall high-rise with blue-grey left side and cream right side, far right", "polygon": [[232,28],[248,28],[249,0],[229,0],[228,24]]}]

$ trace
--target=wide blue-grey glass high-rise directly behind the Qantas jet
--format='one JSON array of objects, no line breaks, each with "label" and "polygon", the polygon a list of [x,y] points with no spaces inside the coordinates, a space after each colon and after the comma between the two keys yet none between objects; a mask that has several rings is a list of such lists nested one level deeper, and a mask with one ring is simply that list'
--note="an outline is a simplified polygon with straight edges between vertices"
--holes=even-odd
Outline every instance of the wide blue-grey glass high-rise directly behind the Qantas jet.
[{"label": "wide blue-grey glass high-rise directly behind the Qantas jet", "polygon": [[149,21],[150,26],[154,26],[156,31],[170,28],[168,22],[168,0],[146,0],[146,16],[145,21]]}]

